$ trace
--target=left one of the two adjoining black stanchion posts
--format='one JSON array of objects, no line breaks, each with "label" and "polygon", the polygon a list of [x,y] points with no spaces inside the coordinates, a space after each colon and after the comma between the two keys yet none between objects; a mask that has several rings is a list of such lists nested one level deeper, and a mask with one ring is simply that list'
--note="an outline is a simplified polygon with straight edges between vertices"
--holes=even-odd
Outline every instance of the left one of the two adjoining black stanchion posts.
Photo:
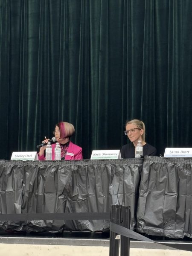
[{"label": "left one of the two adjoining black stanchion posts", "polygon": [[[111,222],[120,225],[121,205],[111,205]],[[110,230],[109,256],[119,256],[119,239],[115,239],[118,234]]]}]

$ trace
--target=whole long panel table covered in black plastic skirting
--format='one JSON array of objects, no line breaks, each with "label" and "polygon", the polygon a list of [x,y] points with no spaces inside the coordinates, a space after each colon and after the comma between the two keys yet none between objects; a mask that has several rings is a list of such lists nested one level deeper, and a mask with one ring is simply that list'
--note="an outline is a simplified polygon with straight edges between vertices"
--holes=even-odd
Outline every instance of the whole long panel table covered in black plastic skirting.
[{"label": "whole long panel table covered in black plastic skirting", "polygon": [[[131,206],[131,229],[191,237],[192,159],[0,160],[0,213],[109,212]],[[108,220],[0,221],[0,232],[105,231]]]}]

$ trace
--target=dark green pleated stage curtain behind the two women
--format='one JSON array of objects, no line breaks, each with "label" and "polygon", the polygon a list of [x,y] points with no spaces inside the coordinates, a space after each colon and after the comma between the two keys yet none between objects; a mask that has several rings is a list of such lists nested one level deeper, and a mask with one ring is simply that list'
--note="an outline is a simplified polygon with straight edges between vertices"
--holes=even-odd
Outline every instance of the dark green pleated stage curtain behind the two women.
[{"label": "dark green pleated stage curtain behind the two women", "polygon": [[191,0],[0,0],[0,159],[61,120],[84,158],[128,142],[192,147]]}]

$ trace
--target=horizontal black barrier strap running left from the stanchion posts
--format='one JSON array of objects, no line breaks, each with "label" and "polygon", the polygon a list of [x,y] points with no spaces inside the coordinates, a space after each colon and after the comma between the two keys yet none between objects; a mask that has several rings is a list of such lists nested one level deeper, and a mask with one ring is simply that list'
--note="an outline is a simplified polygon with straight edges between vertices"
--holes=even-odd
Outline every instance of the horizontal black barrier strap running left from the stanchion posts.
[{"label": "horizontal black barrier strap running left from the stanchion posts", "polygon": [[109,212],[17,213],[0,214],[0,221],[109,220]]}]

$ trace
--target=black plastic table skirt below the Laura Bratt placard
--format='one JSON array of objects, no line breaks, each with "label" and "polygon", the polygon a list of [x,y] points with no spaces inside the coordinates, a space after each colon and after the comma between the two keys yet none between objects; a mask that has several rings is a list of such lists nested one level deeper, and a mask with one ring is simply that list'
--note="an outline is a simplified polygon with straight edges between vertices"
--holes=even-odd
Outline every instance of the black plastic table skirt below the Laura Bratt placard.
[{"label": "black plastic table skirt below the Laura Bratt placard", "polygon": [[170,238],[192,237],[192,158],[145,157],[137,231]]}]

